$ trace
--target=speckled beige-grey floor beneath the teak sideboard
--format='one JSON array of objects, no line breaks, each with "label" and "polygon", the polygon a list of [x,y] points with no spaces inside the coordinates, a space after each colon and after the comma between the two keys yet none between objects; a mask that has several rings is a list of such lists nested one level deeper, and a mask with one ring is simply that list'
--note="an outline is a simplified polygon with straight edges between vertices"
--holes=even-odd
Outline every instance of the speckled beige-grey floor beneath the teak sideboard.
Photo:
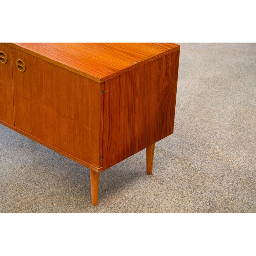
[{"label": "speckled beige-grey floor beneath the teak sideboard", "polygon": [[181,44],[174,133],[100,173],[0,125],[0,212],[256,212],[256,44]]}]

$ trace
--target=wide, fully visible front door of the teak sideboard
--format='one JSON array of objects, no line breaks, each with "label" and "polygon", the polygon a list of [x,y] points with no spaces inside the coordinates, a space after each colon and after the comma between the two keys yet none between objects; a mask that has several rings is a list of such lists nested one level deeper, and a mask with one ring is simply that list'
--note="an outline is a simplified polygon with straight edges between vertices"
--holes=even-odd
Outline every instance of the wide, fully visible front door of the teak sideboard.
[{"label": "wide, fully visible front door of the teak sideboard", "polygon": [[100,167],[101,85],[16,49],[12,66],[15,127]]}]

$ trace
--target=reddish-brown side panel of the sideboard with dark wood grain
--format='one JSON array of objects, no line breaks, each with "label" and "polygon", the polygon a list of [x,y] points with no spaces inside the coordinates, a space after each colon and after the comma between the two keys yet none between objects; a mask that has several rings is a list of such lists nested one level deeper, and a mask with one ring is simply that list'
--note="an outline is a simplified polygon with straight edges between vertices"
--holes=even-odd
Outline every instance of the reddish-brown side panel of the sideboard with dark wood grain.
[{"label": "reddish-brown side panel of the sideboard with dark wood grain", "polygon": [[180,51],[105,82],[103,170],[173,133]]}]

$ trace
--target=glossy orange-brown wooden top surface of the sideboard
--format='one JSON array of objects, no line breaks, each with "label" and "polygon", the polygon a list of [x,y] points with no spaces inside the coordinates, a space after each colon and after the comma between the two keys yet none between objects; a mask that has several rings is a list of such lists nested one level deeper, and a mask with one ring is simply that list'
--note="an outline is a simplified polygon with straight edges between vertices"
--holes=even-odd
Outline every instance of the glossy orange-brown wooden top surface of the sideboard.
[{"label": "glossy orange-brown wooden top surface of the sideboard", "polygon": [[97,82],[177,51],[174,43],[6,43]]}]

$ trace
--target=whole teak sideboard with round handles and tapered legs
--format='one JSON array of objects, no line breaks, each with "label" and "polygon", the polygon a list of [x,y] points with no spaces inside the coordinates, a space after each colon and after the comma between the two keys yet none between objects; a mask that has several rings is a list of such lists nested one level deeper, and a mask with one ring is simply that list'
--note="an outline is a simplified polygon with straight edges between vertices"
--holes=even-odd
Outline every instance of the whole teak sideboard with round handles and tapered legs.
[{"label": "whole teak sideboard with round handles and tapered legs", "polygon": [[180,45],[0,43],[0,123],[99,173],[173,133]]}]

